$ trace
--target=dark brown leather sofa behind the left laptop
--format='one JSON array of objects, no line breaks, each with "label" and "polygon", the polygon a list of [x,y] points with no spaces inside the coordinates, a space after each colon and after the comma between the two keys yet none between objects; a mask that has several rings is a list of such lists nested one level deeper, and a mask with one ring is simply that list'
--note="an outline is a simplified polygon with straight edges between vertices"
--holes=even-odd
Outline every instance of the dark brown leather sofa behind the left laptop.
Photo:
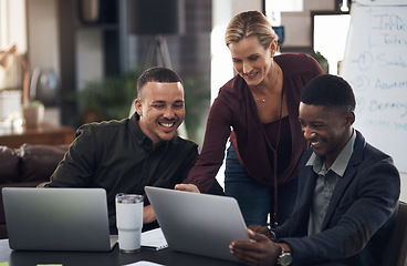
[{"label": "dark brown leather sofa behind the left laptop", "polygon": [[0,145],[0,238],[8,238],[1,190],[36,187],[51,174],[69,145],[23,144],[18,149]]}]

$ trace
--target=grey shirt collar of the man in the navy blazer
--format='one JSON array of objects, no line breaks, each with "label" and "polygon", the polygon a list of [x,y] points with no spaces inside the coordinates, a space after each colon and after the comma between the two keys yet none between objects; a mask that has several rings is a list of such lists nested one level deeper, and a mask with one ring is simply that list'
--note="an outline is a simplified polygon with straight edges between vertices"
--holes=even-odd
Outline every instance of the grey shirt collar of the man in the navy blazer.
[{"label": "grey shirt collar of the man in the navy blazer", "polygon": [[[349,163],[355,140],[356,134],[355,130],[353,130],[351,139],[347,141],[346,145],[341,151],[340,155],[336,157],[335,162],[332,164],[330,168],[341,177],[343,177],[347,164]],[[321,170],[324,168],[323,166],[325,165],[325,161],[322,157],[317,156],[315,153],[312,153],[305,165],[312,166],[315,173],[320,173]]]}]

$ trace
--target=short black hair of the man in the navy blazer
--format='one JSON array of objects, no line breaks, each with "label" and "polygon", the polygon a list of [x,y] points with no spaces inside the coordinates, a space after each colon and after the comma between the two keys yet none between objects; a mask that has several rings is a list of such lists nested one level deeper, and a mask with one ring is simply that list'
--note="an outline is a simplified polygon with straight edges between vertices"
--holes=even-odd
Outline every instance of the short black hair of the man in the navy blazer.
[{"label": "short black hair of the man in the navy blazer", "polygon": [[336,108],[345,113],[354,111],[356,106],[349,83],[332,74],[322,74],[311,80],[301,92],[301,102]]}]

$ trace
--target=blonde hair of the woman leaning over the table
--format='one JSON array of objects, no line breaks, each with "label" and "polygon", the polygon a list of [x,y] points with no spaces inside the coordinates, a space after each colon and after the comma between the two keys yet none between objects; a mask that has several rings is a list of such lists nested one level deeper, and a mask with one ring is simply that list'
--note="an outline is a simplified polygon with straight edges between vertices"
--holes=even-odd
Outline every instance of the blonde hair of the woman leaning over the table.
[{"label": "blonde hair of the woman leaning over the table", "polygon": [[265,16],[259,11],[247,11],[234,16],[226,30],[225,41],[229,47],[231,42],[239,42],[243,38],[257,35],[265,49],[273,40],[279,40]]}]

